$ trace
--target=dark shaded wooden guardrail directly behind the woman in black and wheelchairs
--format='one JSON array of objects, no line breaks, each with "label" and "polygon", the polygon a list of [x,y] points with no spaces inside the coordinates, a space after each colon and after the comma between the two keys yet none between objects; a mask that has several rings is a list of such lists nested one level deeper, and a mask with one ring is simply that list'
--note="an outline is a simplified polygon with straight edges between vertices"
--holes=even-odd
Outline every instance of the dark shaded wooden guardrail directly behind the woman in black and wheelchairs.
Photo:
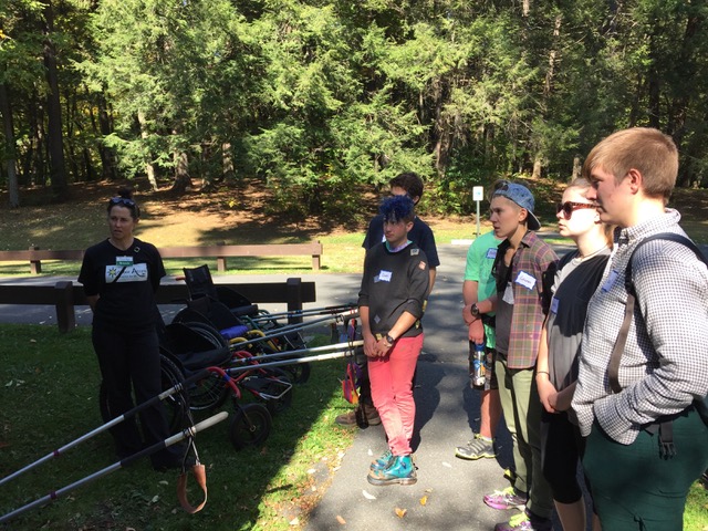
[{"label": "dark shaded wooden guardrail directly behind the woman in black and wheelchairs", "polygon": [[[238,291],[251,302],[288,303],[288,311],[302,310],[304,302],[316,302],[315,283],[302,282],[299,278],[285,282],[252,284],[217,284]],[[189,298],[186,284],[163,284],[157,290],[158,304],[179,304]],[[53,304],[56,308],[56,323],[60,332],[69,332],[76,326],[74,306],[88,302],[81,284],[60,281],[55,284],[0,284],[0,304]],[[302,321],[293,317],[291,322]]]}]

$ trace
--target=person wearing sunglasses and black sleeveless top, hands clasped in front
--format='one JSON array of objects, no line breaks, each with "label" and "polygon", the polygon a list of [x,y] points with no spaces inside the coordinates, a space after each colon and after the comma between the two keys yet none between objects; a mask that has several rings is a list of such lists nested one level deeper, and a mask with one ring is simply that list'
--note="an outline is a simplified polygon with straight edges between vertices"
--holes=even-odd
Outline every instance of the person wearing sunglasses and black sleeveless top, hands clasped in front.
[{"label": "person wearing sunglasses and black sleeveless top, hands clasped in front", "polygon": [[[571,399],[577,379],[577,355],[587,311],[610,258],[612,228],[600,221],[596,205],[585,198],[591,184],[579,178],[556,208],[561,236],[576,249],[561,258],[551,289],[553,298],[543,325],[535,383],[543,404],[541,448],[543,475],[565,531],[585,530],[585,502],[576,480],[583,442]],[[594,529],[598,522],[593,521]]]}]

